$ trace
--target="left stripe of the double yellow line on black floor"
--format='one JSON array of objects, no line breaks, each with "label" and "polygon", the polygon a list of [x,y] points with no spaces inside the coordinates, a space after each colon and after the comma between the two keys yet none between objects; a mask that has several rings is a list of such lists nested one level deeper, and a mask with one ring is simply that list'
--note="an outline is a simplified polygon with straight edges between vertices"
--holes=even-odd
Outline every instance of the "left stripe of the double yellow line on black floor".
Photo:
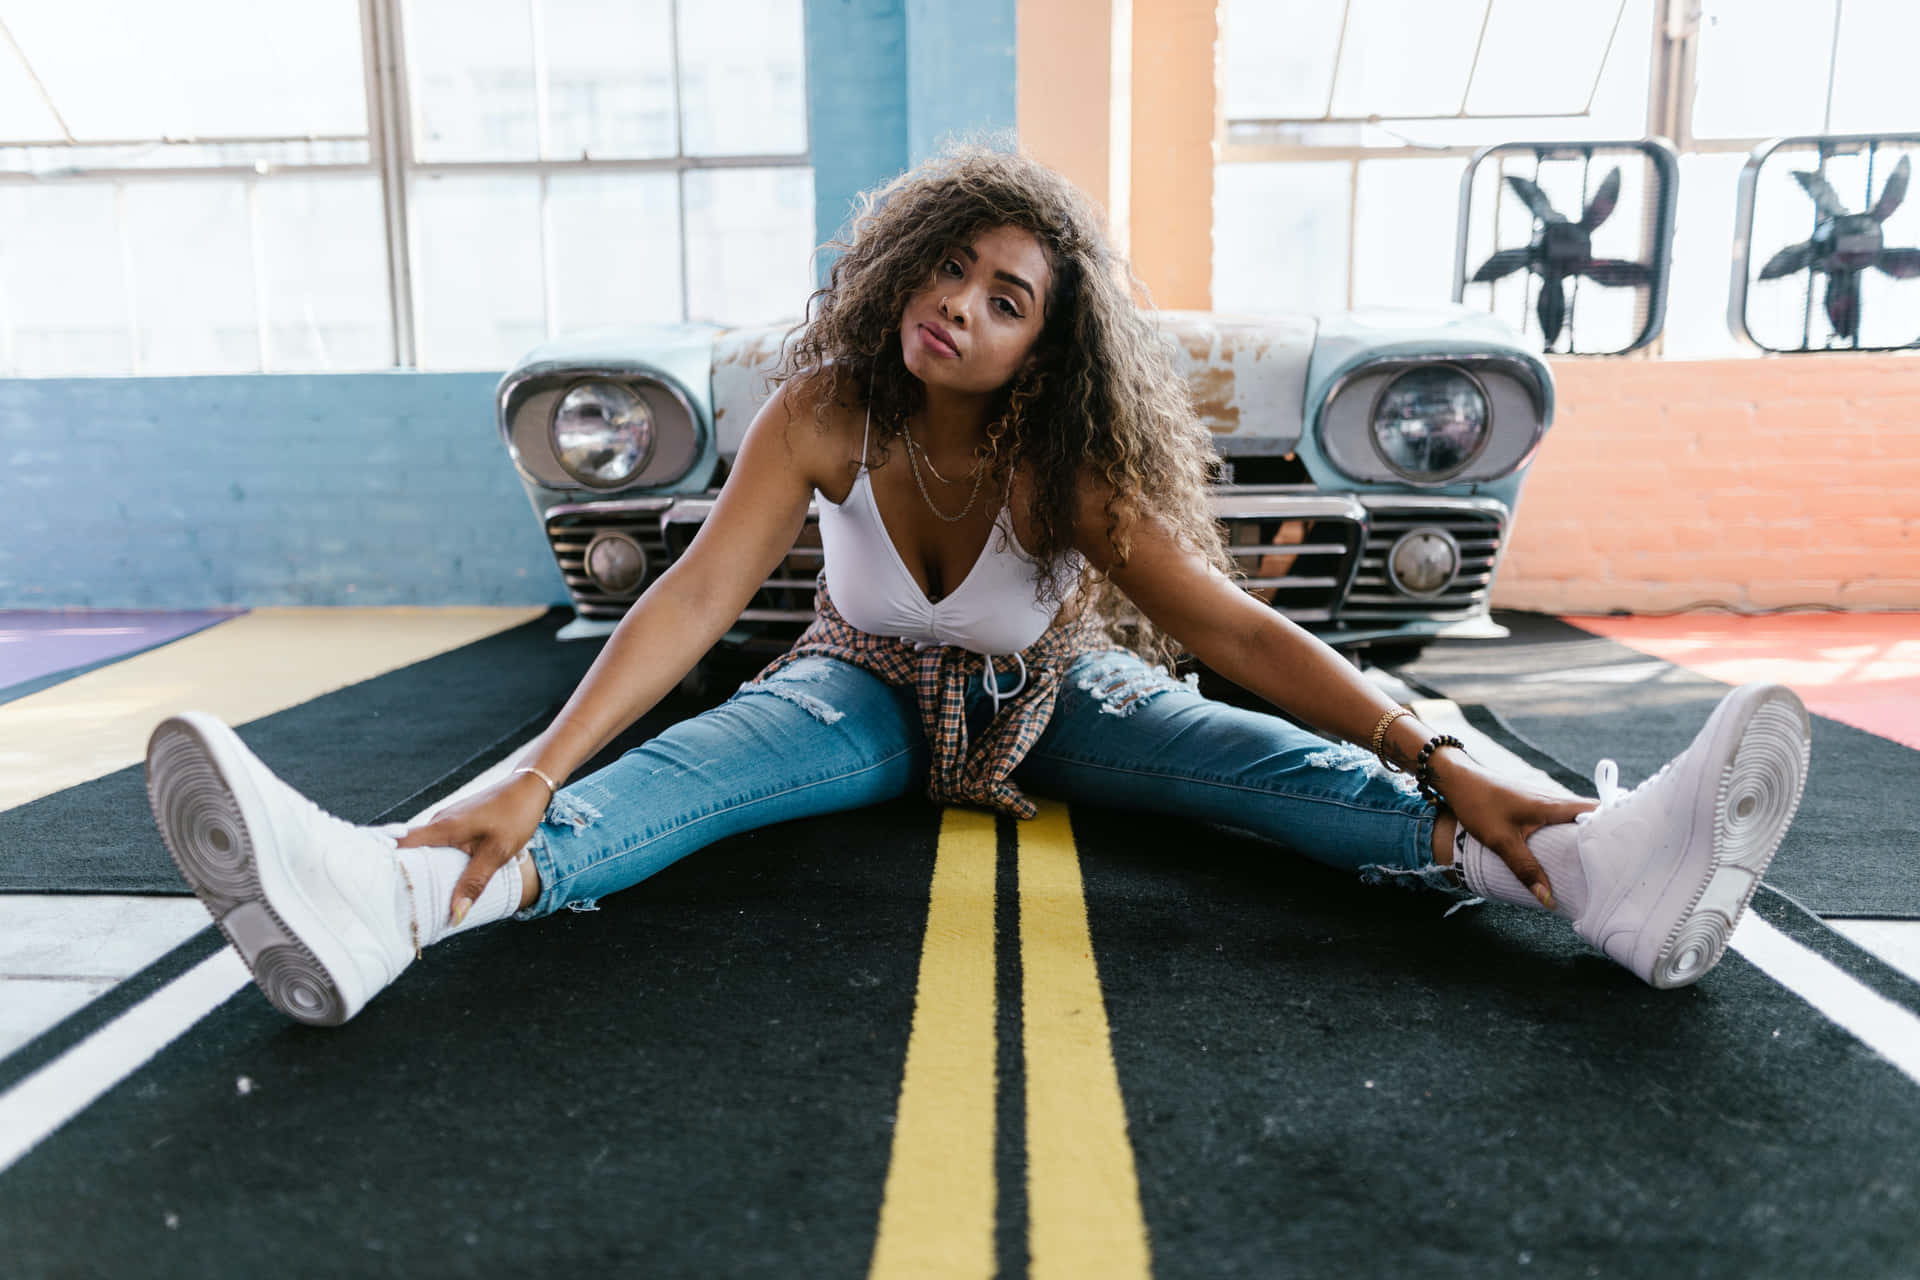
[{"label": "left stripe of the double yellow line on black floor", "polygon": [[993,821],[941,819],[874,1280],[995,1272]]}]

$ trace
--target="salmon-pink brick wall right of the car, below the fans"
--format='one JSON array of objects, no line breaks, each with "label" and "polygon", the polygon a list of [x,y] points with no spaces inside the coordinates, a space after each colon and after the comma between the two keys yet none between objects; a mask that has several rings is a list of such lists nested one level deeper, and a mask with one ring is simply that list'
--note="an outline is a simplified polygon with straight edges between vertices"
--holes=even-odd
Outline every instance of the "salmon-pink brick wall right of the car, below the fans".
[{"label": "salmon-pink brick wall right of the car, below the fans", "polygon": [[1494,604],[1920,608],[1920,359],[1553,361]]}]

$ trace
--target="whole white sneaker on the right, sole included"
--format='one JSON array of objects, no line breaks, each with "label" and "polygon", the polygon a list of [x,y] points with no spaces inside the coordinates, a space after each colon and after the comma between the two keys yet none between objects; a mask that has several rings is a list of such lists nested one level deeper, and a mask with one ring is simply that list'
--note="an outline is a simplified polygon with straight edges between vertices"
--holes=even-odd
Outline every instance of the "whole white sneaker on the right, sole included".
[{"label": "whole white sneaker on the right, sole included", "polygon": [[1699,981],[1793,821],[1809,747],[1791,689],[1741,685],[1632,791],[1601,760],[1599,808],[1576,819],[1590,894],[1574,933],[1653,986]]}]

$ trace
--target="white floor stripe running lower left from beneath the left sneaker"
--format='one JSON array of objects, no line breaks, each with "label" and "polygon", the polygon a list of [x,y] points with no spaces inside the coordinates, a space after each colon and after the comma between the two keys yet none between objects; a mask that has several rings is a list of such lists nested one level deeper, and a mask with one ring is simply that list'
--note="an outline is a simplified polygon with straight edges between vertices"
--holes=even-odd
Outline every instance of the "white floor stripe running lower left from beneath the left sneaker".
[{"label": "white floor stripe running lower left from beneath the left sneaker", "polygon": [[0,1094],[0,1173],[125,1080],[180,1032],[248,984],[232,948],[207,956],[157,992]]}]

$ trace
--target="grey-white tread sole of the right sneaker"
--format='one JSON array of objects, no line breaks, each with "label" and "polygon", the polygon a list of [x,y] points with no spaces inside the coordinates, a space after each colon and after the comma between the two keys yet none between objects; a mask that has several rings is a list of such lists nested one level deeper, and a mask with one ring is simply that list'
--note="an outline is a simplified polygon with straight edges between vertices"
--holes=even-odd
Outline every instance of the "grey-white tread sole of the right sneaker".
[{"label": "grey-white tread sole of the right sneaker", "polygon": [[1768,691],[1749,712],[1740,747],[1720,770],[1713,800],[1713,869],[1655,954],[1647,979],[1653,986],[1688,986],[1720,963],[1734,925],[1799,812],[1811,754],[1807,708],[1788,689]]}]

